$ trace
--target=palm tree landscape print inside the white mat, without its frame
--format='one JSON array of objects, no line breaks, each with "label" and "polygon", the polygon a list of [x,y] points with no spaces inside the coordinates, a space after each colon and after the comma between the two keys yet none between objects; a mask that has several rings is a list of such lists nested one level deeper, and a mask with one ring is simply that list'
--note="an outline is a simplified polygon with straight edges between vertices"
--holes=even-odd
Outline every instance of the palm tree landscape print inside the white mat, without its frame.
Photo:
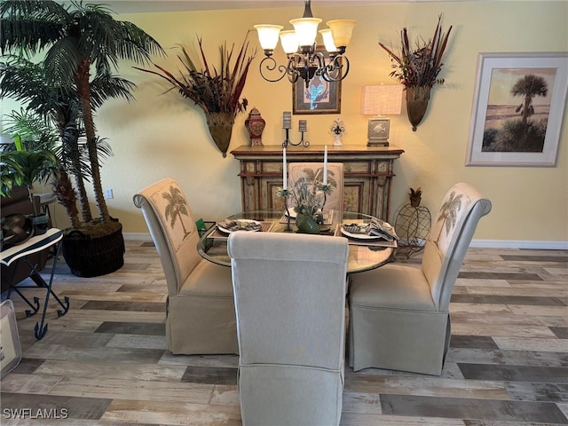
[{"label": "palm tree landscape print inside the white mat, without its frame", "polygon": [[542,153],[556,68],[495,68],[482,152]]}]

